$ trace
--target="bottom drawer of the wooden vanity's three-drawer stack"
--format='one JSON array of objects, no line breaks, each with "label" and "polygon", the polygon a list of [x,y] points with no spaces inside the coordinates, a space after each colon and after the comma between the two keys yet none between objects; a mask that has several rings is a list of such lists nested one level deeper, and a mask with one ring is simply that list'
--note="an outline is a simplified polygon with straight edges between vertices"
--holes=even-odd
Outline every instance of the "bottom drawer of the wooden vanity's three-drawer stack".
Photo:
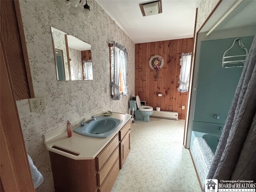
[{"label": "bottom drawer of the wooden vanity's three-drawer stack", "polygon": [[116,160],[116,162],[115,162],[112,170],[108,174],[105,182],[98,189],[98,192],[110,192],[110,190],[112,189],[112,187],[113,187],[113,185],[114,185],[114,183],[116,181],[118,173],[119,173],[119,159]]}]

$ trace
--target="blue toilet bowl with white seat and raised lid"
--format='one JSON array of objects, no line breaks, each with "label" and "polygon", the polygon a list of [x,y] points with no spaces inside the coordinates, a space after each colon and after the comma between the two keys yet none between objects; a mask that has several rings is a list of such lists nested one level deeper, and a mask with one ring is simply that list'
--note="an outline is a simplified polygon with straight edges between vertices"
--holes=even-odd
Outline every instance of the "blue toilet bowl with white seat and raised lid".
[{"label": "blue toilet bowl with white seat and raised lid", "polygon": [[135,120],[149,122],[149,116],[153,114],[153,108],[150,106],[142,106],[138,95],[136,96],[136,103],[138,109],[134,111]]}]

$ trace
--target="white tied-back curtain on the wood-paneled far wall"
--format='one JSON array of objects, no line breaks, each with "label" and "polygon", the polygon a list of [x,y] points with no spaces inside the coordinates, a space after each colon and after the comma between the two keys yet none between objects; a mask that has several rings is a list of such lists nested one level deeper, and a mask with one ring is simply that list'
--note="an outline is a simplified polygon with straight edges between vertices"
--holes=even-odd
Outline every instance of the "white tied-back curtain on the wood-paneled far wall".
[{"label": "white tied-back curtain on the wood-paneled far wall", "polygon": [[191,64],[191,53],[182,53],[180,59],[180,80],[178,87],[179,92],[187,92],[188,91],[188,78],[190,73],[190,64]]}]

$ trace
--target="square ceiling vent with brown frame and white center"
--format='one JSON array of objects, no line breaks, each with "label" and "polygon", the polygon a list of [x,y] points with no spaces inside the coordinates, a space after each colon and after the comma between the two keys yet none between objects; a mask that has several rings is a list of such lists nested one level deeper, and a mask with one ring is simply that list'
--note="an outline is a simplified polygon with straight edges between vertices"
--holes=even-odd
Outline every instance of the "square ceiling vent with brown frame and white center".
[{"label": "square ceiling vent with brown frame and white center", "polygon": [[153,0],[140,3],[139,6],[143,16],[157,15],[162,13],[162,0]]}]

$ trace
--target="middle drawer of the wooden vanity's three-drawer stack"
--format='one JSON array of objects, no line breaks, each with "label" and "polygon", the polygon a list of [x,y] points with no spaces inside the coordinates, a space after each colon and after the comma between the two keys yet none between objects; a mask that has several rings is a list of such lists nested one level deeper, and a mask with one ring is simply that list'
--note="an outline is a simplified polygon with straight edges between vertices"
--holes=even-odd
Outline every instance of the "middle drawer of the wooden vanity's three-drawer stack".
[{"label": "middle drawer of the wooden vanity's three-drawer stack", "polygon": [[112,166],[116,162],[119,156],[119,148],[117,147],[116,150],[113,152],[112,156],[109,158],[108,162],[104,165],[104,167],[97,173],[98,177],[98,186],[100,186],[108,173],[110,172]]}]

